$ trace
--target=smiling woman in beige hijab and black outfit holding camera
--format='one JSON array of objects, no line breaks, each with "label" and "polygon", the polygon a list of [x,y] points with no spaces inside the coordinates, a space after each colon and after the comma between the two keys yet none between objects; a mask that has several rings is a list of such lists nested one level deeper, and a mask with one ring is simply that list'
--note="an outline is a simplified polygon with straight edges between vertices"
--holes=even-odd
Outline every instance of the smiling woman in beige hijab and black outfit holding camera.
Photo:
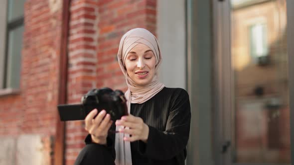
[{"label": "smiling woman in beige hijab and black outfit holding camera", "polygon": [[[119,65],[129,89],[128,116],[115,124],[97,109],[85,119],[86,147],[75,165],[184,165],[190,130],[189,96],[157,80],[161,55],[153,34],[143,28],[121,39]],[[108,135],[108,130],[119,133]]]}]

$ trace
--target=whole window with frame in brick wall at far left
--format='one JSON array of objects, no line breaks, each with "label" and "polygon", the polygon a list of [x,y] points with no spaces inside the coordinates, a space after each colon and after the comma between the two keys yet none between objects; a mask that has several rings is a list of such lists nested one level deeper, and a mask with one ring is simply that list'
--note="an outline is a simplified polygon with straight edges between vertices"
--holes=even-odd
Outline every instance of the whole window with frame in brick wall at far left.
[{"label": "whole window with frame in brick wall at far left", "polygon": [[24,2],[0,2],[0,90],[19,88]]}]

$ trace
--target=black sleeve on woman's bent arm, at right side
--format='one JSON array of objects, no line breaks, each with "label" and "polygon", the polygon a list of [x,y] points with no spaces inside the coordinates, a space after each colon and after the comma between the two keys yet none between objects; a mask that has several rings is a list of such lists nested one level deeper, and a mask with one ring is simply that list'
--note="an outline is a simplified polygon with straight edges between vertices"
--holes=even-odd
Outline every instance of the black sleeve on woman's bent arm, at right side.
[{"label": "black sleeve on woman's bent arm, at right side", "polygon": [[165,131],[161,132],[149,126],[147,144],[139,144],[143,155],[156,160],[166,160],[175,157],[186,148],[191,114],[189,99],[184,96],[184,92],[182,94],[171,107]]}]

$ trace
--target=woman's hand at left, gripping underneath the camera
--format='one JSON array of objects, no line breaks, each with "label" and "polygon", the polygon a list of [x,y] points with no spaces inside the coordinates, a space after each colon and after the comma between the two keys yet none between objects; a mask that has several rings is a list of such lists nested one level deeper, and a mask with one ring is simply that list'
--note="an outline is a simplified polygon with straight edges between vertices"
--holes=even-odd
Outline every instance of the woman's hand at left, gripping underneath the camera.
[{"label": "woman's hand at left, gripping underneath the camera", "polygon": [[92,142],[105,145],[108,130],[113,121],[110,120],[110,114],[106,114],[105,110],[98,113],[97,109],[92,110],[85,118],[85,130],[91,134]]}]

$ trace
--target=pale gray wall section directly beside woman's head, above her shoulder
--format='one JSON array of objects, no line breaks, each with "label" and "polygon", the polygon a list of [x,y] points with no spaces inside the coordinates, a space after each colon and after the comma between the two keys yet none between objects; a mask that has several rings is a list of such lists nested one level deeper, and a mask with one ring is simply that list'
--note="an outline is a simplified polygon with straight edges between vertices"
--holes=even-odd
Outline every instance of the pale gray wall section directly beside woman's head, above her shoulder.
[{"label": "pale gray wall section directly beside woman's head, above her shoulder", "polygon": [[157,0],[157,38],[162,63],[159,81],[186,89],[185,0]]}]

